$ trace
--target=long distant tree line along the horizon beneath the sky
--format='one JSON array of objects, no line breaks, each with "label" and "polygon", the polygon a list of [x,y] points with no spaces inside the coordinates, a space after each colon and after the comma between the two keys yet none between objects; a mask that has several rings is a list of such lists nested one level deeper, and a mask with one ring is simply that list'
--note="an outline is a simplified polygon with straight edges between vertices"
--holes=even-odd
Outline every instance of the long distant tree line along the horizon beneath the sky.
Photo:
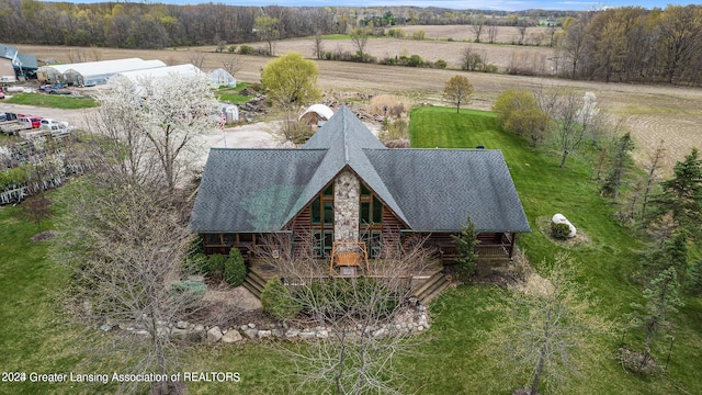
[{"label": "long distant tree line along the horizon beneath the sky", "polygon": [[237,44],[260,38],[256,20],[276,22],[278,38],[346,34],[349,30],[405,24],[535,25],[540,15],[573,12],[532,10],[508,13],[438,8],[238,7],[223,3],[68,3],[0,0],[0,42],[18,44],[163,48]]}]

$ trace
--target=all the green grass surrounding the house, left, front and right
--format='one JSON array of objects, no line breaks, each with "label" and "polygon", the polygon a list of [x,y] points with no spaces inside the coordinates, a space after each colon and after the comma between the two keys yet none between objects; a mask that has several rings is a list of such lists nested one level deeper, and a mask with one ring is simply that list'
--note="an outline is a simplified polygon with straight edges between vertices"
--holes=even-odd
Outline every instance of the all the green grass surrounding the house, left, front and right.
[{"label": "all the green grass surrounding the house, left, front and right", "polygon": [[[559,169],[557,155],[532,149],[522,139],[501,133],[495,115],[482,111],[420,108],[410,123],[416,147],[501,149],[532,226],[522,235],[520,247],[539,271],[558,251],[568,251],[579,262],[579,281],[588,283],[600,300],[597,313],[618,320],[641,301],[641,289],[631,280],[637,251],[645,246],[612,219],[614,207],[599,196],[589,181],[590,166],[582,157],[573,157]],[[61,190],[60,193],[68,193]],[[564,213],[588,242],[568,248],[553,242],[540,230],[537,219]],[[104,373],[118,370],[112,354],[87,358],[81,351],[86,336],[109,341],[97,329],[84,331],[66,316],[60,292],[68,272],[52,263],[46,242],[30,238],[38,230],[19,215],[19,207],[0,207],[0,371]],[[61,210],[58,207],[58,214]],[[45,224],[49,228],[52,224]],[[58,240],[56,240],[58,241]],[[405,374],[404,393],[508,394],[526,381],[525,376],[499,370],[489,357],[476,353],[482,339],[475,328],[489,328],[495,316],[483,307],[506,291],[491,285],[462,285],[446,291],[432,303],[431,329],[422,335],[426,345],[416,354],[397,361]],[[686,307],[671,318],[676,323],[669,368],[666,374],[639,377],[622,370],[613,358],[621,337],[593,337],[604,358],[585,361],[582,376],[570,376],[563,394],[700,394],[702,381],[702,302],[686,298]],[[641,347],[641,338],[630,332],[626,341]],[[657,342],[655,357],[665,361],[669,343]],[[190,383],[194,394],[287,394],[295,386],[285,376],[291,373],[279,353],[265,343],[244,346],[203,346],[185,368],[194,371],[236,371],[242,381],[231,383]],[[195,362],[196,361],[196,362]],[[0,383],[0,393],[111,393],[114,386],[46,383]],[[306,388],[305,393],[315,393]]]}]

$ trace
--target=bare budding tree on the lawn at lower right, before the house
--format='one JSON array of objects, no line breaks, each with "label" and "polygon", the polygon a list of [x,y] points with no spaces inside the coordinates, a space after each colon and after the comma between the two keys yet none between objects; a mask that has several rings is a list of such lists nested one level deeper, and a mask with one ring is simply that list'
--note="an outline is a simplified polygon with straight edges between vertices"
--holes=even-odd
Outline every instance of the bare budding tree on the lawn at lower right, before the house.
[{"label": "bare budding tree on the lawn at lower right, before the house", "polygon": [[539,394],[545,383],[553,393],[569,372],[577,373],[584,358],[598,359],[591,337],[609,334],[612,325],[591,309],[591,292],[575,280],[576,264],[565,255],[556,257],[547,280],[513,291],[488,309],[501,315],[482,338],[482,353],[505,371],[529,376],[529,394]]}]

